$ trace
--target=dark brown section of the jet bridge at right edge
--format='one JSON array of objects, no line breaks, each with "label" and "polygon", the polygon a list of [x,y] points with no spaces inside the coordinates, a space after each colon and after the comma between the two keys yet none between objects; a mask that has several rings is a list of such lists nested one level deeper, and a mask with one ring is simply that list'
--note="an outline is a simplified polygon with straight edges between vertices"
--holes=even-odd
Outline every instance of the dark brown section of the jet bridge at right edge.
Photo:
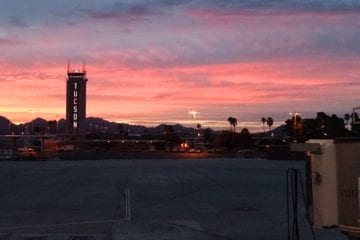
[{"label": "dark brown section of the jet bridge at right edge", "polygon": [[338,226],[350,236],[360,237],[360,138],[335,141],[338,175]]}]

